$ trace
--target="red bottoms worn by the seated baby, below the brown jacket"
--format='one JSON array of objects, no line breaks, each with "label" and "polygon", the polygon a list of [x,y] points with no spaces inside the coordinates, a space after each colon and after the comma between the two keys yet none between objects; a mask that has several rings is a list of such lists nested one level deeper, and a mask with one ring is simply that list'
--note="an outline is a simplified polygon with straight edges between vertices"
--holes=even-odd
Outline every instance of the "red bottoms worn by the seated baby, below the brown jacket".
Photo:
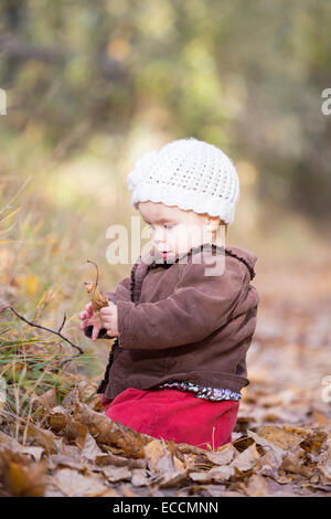
[{"label": "red bottoms worn by the seated baby, below the brown jacket", "polygon": [[105,399],[105,414],[114,422],[156,438],[173,439],[207,449],[232,441],[239,402],[213,402],[174,389],[129,388],[114,400]]}]

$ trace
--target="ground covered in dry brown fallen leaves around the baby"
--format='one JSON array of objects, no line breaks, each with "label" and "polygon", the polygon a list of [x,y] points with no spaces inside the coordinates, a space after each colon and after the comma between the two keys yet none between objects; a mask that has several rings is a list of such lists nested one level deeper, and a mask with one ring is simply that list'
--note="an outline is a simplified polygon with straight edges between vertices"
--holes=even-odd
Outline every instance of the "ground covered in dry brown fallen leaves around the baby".
[{"label": "ground covered in dry brown fallen leaves around the baby", "polygon": [[96,383],[81,377],[61,405],[55,389],[39,396],[38,419],[2,417],[0,495],[331,496],[330,268],[266,271],[256,286],[232,443],[204,451],[136,433],[103,415],[98,395],[86,402]]}]

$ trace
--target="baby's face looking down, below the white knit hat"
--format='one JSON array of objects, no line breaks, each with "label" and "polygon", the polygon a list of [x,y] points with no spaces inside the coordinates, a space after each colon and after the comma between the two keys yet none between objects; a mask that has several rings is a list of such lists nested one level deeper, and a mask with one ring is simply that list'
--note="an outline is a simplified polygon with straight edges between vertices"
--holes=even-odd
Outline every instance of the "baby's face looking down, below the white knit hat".
[{"label": "baby's face looking down, below the white knit hat", "polygon": [[211,240],[211,231],[220,224],[217,216],[197,214],[161,202],[139,202],[138,210],[152,230],[151,241],[164,258],[186,253]]}]

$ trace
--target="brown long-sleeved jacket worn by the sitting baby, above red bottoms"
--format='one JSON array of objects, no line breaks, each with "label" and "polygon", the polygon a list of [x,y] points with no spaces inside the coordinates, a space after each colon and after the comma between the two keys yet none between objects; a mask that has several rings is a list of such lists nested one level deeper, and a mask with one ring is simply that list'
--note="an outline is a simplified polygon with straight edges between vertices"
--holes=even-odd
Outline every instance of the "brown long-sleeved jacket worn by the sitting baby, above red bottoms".
[{"label": "brown long-sleeved jacket worn by the sitting baby, above red bottoms", "polygon": [[[157,253],[152,263],[146,257],[115,292],[103,293],[117,305],[119,336],[98,392],[113,400],[128,388],[174,380],[233,391],[248,385],[257,256],[238,246],[203,245],[174,263],[159,263]],[[215,268],[217,275],[206,275]],[[84,331],[90,337],[92,327]],[[103,338],[110,338],[104,328]]]}]

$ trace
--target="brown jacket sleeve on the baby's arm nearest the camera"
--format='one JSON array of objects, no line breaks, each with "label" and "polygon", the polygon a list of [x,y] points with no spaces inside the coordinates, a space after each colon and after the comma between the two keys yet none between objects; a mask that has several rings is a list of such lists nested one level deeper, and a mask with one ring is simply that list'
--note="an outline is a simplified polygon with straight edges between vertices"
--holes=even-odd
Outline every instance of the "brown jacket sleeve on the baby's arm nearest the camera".
[{"label": "brown jacket sleeve on the baby's arm nearest the camera", "polygon": [[160,349],[200,341],[222,327],[241,299],[244,273],[228,257],[224,272],[184,266],[175,292],[157,303],[117,303],[119,341],[128,349]]}]

